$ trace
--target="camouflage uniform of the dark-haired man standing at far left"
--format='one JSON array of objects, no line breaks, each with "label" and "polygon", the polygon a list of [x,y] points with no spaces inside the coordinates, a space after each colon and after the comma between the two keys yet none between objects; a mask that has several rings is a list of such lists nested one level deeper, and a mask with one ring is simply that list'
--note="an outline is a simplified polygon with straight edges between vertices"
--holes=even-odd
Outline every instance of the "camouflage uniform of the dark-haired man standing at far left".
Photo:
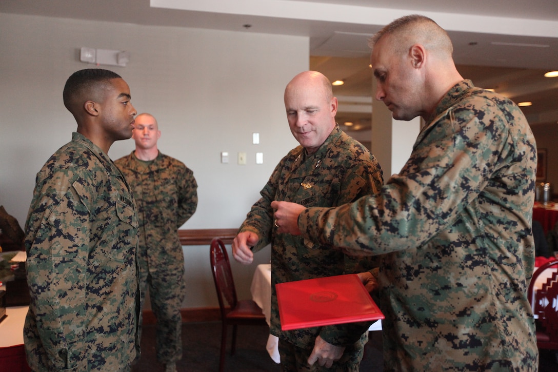
[{"label": "camouflage uniform of the dark-haired man standing at far left", "polygon": [[118,168],[73,133],[37,174],[26,222],[32,370],[129,370],[140,345],[137,227]]}]

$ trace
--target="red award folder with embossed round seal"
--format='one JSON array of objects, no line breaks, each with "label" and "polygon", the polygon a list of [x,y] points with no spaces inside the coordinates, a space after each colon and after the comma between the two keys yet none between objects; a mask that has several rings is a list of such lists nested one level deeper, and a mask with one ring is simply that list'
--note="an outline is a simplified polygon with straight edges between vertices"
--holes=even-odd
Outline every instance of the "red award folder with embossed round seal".
[{"label": "red award folder with embossed round seal", "polygon": [[279,283],[275,290],[283,331],[384,318],[357,274]]}]

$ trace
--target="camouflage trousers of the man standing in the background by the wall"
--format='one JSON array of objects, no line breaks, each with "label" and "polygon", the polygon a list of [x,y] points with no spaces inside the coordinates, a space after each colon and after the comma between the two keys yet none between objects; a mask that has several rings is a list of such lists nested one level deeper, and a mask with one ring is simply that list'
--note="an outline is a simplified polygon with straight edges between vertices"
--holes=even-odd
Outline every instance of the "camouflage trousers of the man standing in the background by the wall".
[{"label": "camouflage trousers of the man standing in the background by the wall", "polygon": [[[164,266],[164,265],[161,265]],[[149,288],[151,309],[157,319],[155,349],[157,361],[166,364],[182,358],[182,316],[180,307],[184,301],[184,265],[158,267],[150,274],[147,264],[140,262],[141,303]],[[140,318],[140,337],[142,316]]]}]

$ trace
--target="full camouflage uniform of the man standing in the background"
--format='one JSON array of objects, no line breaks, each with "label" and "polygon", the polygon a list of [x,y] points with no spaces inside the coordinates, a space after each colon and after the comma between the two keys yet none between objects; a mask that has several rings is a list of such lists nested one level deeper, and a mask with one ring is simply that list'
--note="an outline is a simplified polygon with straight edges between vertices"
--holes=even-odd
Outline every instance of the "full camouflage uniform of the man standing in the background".
[{"label": "full camouflage uniform of the man standing in the background", "polygon": [[180,307],[185,284],[178,228],[196,211],[198,184],[181,161],[161,152],[152,161],[138,160],[132,152],[115,163],[126,176],[138,206],[141,303],[143,306],[149,286],[157,318],[157,360],[170,363],[182,357]]}]

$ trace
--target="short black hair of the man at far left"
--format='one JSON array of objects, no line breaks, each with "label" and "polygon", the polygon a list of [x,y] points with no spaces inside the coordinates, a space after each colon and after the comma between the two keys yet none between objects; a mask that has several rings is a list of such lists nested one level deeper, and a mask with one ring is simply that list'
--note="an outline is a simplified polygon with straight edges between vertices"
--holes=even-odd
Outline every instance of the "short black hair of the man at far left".
[{"label": "short black hair of the man at far left", "polygon": [[64,106],[71,111],[71,101],[80,97],[86,90],[91,90],[99,83],[107,83],[111,79],[122,79],[117,73],[104,69],[84,69],[71,74],[66,84],[62,98]]}]

